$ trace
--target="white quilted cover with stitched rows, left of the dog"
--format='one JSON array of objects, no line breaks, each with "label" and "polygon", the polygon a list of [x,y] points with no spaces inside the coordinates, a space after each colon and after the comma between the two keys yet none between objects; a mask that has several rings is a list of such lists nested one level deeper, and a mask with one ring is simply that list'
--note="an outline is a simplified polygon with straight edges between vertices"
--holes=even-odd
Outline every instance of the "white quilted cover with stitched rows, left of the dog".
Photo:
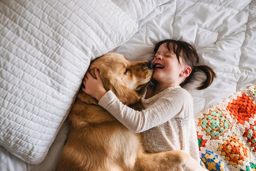
[{"label": "white quilted cover with stitched rows, left of the dog", "polygon": [[1,0],[0,145],[40,163],[90,61],[125,43],[138,18],[164,2],[131,1],[123,11],[116,0]]}]

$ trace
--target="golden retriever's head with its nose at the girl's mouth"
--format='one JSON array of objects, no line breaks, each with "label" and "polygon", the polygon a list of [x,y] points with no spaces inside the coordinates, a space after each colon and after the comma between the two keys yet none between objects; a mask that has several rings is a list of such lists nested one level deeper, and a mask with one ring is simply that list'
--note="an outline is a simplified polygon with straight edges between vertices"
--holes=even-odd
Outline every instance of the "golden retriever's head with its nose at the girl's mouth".
[{"label": "golden retriever's head with its nose at the girl's mouth", "polygon": [[145,85],[153,73],[151,61],[130,62],[118,53],[107,53],[91,63],[89,71],[94,78],[95,68],[99,69],[105,89],[112,90],[127,105],[143,96]]}]

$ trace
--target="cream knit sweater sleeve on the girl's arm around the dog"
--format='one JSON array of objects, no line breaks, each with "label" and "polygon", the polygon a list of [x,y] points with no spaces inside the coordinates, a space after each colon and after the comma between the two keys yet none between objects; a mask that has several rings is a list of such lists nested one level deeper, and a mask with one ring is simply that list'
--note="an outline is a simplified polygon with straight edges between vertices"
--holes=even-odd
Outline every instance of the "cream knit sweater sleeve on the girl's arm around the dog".
[{"label": "cream knit sweater sleeve on the girl's arm around the dog", "polygon": [[[182,88],[179,88],[182,89]],[[186,91],[186,90],[184,90]],[[181,92],[181,93],[180,93]],[[188,92],[187,92],[188,93]],[[186,93],[185,93],[186,96]],[[190,96],[190,94],[189,94]],[[173,117],[180,116],[186,110],[183,91],[172,90],[165,93],[148,108],[138,111],[122,104],[116,95],[109,90],[99,101],[99,105],[108,110],[119,122],[135,133],[161,125]]]}]

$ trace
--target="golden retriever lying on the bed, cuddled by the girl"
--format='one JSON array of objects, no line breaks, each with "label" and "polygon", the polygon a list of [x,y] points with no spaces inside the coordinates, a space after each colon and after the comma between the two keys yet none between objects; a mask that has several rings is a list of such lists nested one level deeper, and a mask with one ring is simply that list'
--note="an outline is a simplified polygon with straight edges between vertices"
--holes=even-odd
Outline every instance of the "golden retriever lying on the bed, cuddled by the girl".
[{"label": "golden retriever lying on the bed, cuddled by the girl", "polygon": [[[129,107],[142,110],[140,99],[151,79],[150,61],[130,62],[124,55],[107,53],[92,62],[105,89]],[[201,171],[189,154],[180,150],[146,153],[139,133],[133,133],[98,101],[79,90],[68,120],[70,133],[58,171]],[[198,148],[198,147],[195,147]]]}]

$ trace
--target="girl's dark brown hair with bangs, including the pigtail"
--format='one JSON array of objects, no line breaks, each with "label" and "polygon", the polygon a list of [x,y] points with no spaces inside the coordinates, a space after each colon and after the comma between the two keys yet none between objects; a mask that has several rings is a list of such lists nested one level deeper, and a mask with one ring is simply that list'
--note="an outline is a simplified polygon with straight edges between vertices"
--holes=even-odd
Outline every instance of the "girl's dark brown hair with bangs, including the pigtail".
[{"label": "girl's dark brown hair with bangs, including the pigtail", "polygon": [[211,67],[208,67],[206,65],[197,66],[198,54],[196,52],[194,45],[187,43],[185,41],[175,41],[175,40],[167,39],[157,43],[157,45],[154,48],[154,53],[157,52],[158,48],[163,43],[166,43],[166,46],[169,51],[171,51],[170,49],[172,49],[172,51],[177,56],[179,63],[180,63],[180,56],[181,56],[184,63],[189,67],[191,67],[192,69],[190,75],[185,79],[185,81],[183,81],[180,84],[180,86],[183,86],[184,84],[189,82],[190,78],[192,77],[196,69],[201,72],[204,72],[207,76],[206,80],[201,83],[201,86],[196,88],[197,90],[205,89],[212,84],[213,79],[216,78],[217,76]]}]

